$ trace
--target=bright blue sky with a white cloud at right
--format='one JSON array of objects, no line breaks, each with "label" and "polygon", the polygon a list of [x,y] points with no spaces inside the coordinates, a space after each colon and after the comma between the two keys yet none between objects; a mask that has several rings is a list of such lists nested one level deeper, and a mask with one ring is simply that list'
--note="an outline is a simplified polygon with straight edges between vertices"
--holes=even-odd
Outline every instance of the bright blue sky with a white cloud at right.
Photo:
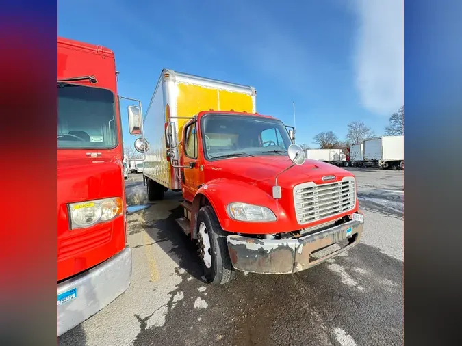
[{"label": "bright blue sky with a white cloud at right", "polygon": [[[162,68],[253,85],[257,111],[294,124],[297,143],[339,139],[363,120],[383,133],[403,104],[402,0],[79,0],[58,4],[58,35],[116,54],[118,92],[144,110]],[[127,132],[125,101],[124,142]]]}]

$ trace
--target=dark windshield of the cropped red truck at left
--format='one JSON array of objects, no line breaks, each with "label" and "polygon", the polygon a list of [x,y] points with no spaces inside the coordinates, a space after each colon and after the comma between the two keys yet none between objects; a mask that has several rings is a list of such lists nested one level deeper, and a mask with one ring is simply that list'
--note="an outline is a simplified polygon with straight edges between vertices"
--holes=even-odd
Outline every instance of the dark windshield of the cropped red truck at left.
[{"label": "dark windshield of the cropped red truck at left", "polygon": [[58,83],[57,147],[114,148],[115,114],[110,90]]}]

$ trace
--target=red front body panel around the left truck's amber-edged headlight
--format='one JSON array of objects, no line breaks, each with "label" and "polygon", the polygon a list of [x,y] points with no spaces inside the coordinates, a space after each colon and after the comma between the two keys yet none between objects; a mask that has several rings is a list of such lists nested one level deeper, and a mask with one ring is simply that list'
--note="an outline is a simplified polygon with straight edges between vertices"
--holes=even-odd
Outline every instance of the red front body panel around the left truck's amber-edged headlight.
[{"label": "red front body panel around the left truck's amber-edged headlight", "polygon": [[75,157],[65,157],[63,152],[58,152],[58,281],[105,261],[125,247],[125,216],[88,228],[69,230],[68,203],[108,197],[125,200],[122,161],[110,157],[81,157],[81,152],[73,155]]}]

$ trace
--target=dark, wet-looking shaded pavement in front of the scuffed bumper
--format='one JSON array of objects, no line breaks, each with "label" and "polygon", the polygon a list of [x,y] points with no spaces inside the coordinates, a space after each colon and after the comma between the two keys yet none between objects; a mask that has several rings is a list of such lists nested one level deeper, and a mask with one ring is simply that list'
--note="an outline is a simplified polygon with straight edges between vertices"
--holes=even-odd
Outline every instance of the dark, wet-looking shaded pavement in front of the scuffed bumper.
[{"label": "dark, wet-looking shaded pavement in front of the scuffed bumper", "polygon": [[218,287],[182,274],[172,297],[183,299],[133,345],[340,345],[339,331],[354,339],[348,345],[401,345],[402,262],[363,244],[351,252],[299,274],[240,274]]}]

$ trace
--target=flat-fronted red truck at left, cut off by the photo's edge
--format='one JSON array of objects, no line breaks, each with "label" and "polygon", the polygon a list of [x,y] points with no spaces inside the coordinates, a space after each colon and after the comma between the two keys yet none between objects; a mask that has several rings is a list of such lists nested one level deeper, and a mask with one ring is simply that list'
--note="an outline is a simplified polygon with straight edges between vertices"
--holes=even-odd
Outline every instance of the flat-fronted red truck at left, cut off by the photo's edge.
[{"label": "flat-fronted red truck at left, cut off by the photo's edge", "polygon": [[131,279],[114,53],[57,38],[57,334]]}]

